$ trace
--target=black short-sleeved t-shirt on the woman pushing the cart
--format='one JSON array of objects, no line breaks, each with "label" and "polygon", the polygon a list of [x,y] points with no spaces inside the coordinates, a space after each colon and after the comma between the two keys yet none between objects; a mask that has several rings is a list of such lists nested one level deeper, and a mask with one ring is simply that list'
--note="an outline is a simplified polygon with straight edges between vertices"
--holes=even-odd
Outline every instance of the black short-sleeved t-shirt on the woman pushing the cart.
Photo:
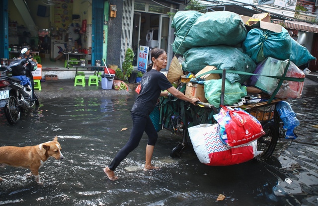
[{"label": "black short-sleeved t-shirt on the woman pushing the cart", "polygon": [[141,81],[140,94],[131,112],[148,117],[157,104],[160,92],[171,86],[172,84],[168,81],[167,77],[160,71],[151,69],[146,72]]}]

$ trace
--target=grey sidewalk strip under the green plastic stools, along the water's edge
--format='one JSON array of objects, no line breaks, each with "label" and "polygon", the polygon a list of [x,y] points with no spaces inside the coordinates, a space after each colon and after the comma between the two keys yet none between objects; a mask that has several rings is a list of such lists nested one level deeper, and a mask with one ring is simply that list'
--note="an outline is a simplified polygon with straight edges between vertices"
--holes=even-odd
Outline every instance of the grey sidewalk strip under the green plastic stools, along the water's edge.
[{"label": "grey sidewalk strip under the green plastic stools, along the water's edge", "polygon": [[129,95],[134,91],[134,84],[128,85],[127,90],[102,89],[101,83],[98,86],[74,86],[74,79],[58,79],[41,81],[42,90],[36,89],[35,92],[40,99],[63,98],[63,97],[100,97],[100,96],[116,96]]}]

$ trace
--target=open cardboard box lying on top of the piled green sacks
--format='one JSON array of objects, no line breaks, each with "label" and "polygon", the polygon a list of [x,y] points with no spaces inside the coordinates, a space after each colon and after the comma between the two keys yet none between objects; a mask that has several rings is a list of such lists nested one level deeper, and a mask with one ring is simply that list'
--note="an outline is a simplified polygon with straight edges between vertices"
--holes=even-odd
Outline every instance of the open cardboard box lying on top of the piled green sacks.
[{"label": "open cardboard box lying on top of the piled green sacks", "polygon": [[257,13],[249,16],[240,16],[245,26],[267,29],[273,32],[282,32],[282,25],[271,23],[269,13]]}]

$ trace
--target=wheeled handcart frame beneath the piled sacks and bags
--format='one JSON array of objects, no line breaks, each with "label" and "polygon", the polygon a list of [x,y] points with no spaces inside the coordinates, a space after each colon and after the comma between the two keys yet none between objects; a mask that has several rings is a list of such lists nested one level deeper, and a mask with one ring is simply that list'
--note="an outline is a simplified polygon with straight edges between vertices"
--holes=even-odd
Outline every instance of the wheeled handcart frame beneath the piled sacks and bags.
[{"label": "wheeled handcart frame beneath the piled sacks and bags", "polygon": [[[224,85],[225,71],[223,75]],[[221,105],[224,100],[224,86],[222,85]],[[180,83],[177,89],[182,91],[185,84]],[[285,137],[286,130],[283,129],[283,122],[276,111],[276,104],[286,99],[269,99],[257,104],[239,106],[252,116],[254,116],[262,125],[265,135],[257,139],[257,150],[262,153],[256,156],[257,160],[268,159],[275,150],[279,137]],[[234,107],[234,106],[232,106]],[[213,115],[219,113],[213,105],[197,102],[197,105],[190,104],[173,96],[160,97],[160,124],[162,129],[171,131],[173,134],[181,136],[182,141],[175,146],[171,157],[180,156],[184,148],[188,145],[188,128],[200,124],[215,124]]]}]

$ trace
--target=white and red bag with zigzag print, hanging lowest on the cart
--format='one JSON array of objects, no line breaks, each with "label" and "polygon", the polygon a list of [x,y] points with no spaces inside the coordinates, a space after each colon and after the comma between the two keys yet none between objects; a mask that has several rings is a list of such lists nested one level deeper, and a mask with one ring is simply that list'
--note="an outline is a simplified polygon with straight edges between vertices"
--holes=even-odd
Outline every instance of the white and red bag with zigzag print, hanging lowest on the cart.
[{"label": "white and red bag with zigzag print, hanging lowest on the cart", "polygon": [[253,159],[261,152],[257,151],[257,142],[252,141],[236,148],[227,147],[220,139],[219,124],[201,124],[188,128],[191,143],[201,163],[210,166],[239,164]]}]

